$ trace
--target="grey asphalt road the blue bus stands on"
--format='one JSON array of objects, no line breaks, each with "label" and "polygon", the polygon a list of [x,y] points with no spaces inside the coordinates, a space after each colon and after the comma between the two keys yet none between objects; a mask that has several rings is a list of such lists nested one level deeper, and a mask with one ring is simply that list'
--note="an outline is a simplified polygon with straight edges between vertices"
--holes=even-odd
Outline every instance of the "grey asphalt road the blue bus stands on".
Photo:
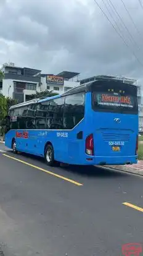
[{"label": "grey asphalt road the blue bus stands on", "polygon": [[0,163],[4,255],[118,256],[123,244],[142,243],[142,177],[96,167],[49,168],[2,143]]}]

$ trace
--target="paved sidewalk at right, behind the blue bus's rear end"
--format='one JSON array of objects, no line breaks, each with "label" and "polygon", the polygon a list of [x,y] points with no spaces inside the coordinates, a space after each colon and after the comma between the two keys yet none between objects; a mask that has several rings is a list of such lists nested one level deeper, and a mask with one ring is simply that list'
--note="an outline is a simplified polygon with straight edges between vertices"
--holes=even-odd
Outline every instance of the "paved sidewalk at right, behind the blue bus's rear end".
[{"label": "paved sidewalk at right, behind the blue bus's rear end", "polygon": [[108,165],[105,168],[116,169],[119,171],[125,171],[126,173],[134,173],[143,176],[143,160],[139,160],[137,164],[128,165]]}]

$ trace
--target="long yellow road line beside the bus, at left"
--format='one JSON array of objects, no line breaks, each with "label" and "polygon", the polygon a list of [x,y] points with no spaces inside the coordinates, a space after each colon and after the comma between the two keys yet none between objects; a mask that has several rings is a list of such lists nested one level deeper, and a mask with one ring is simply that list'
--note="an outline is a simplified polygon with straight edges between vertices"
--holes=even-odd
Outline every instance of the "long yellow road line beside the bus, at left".
[{"label": "long yellow road line beside the bus, at left", "polygon": [[46,169],[43,169],[43,168],[41,168],[41,167],[39,167],[39,166],[36,166],[36,165],[30,164],[30,163],[27,163],[27,162],[25,162],[25,161],[22,161],[22,160],[20,160],[20,159],[17,159],[17,158],[15,158],[15,157],[12,157],[12,156],[8,156],[8,155],[6,155],[6,154],[2,154],[2,155],[3,155],[3,156],[6,156],[6,157],[8,157],[8,158],[10,158],[10,159],[12,159],[12,160],[18,161],[18,162],[20,162],[20,163],[27,164],[28,166],[31,166],[31,167],[33,167],[33,168],[39,169],[40,171],[43,171],[44,173],[51,174],[52,176],[55,176],[55,177],[59,177],[60,179],[63,179],[64,181],[68,181],[68,182],[70,182],[70,183],[75,184],[76,186],[83,186],[83,184],[81,184],[81,183],[79,183],[79,182],[77,182],[77,181],[73,181],[72,179],[68,179],[67,177],[63,177],[63,176],[61,176],[61,175],[59,175],[59,174],[52,173],[51,171],[47,171]]}]

